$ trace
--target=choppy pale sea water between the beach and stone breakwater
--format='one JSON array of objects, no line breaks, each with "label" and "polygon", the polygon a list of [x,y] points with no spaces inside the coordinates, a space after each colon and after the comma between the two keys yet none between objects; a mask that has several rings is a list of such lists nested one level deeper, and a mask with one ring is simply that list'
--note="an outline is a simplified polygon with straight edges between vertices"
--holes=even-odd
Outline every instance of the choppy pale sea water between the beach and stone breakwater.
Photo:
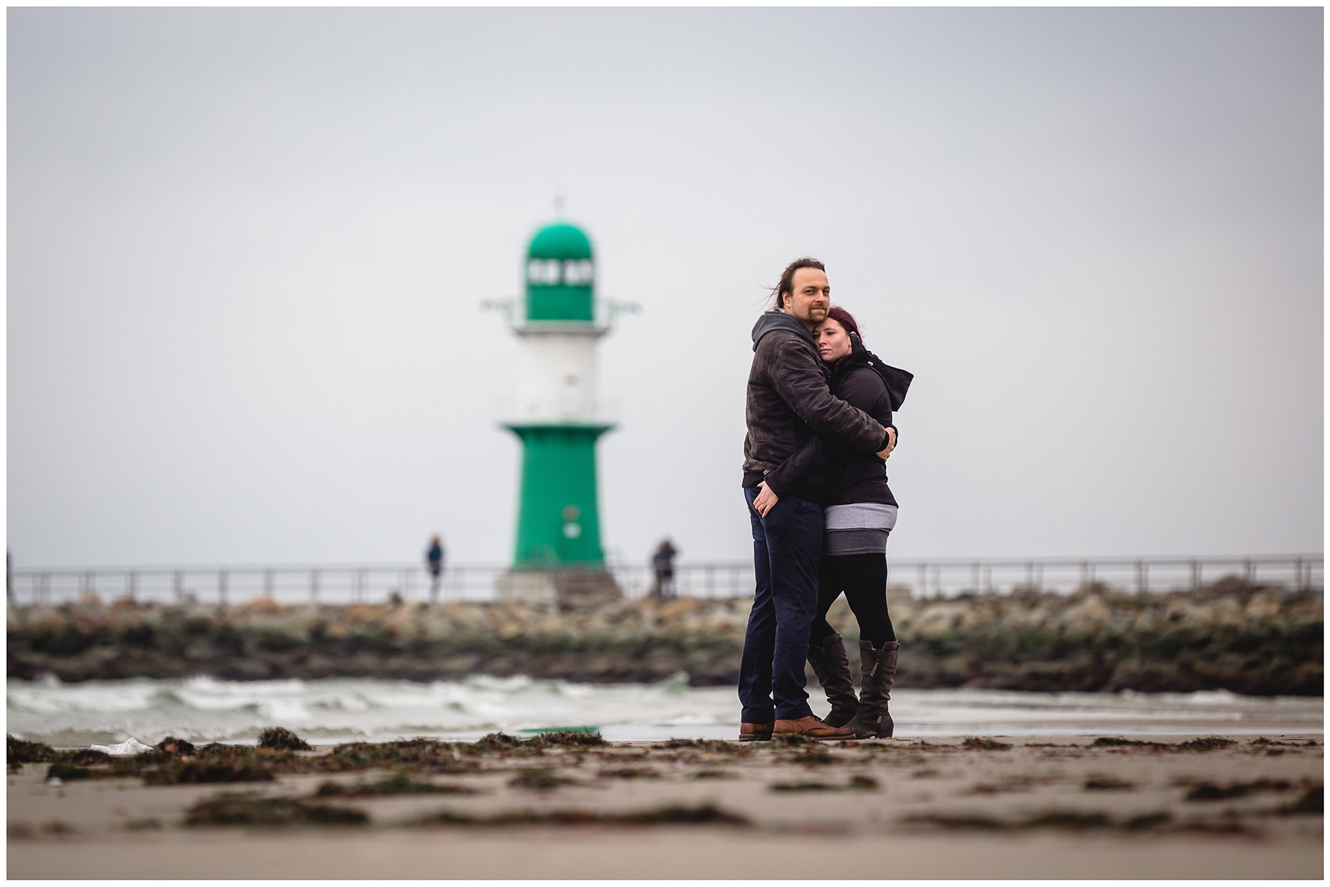
[{"label": "choppy pale sea water between the beach and stone breakwater", "polygon": [[[809,689],[814,713],[826,699]],[[475,676],[463,681],[379,678],[221,681],[134,678],[61,684],[48,677],[5,684],[7,731],[57,747],[168,735],[190,742],[257,742],[283,726],[314,745],[432,737],[475,741],[487,733],[595,729],[612,741],[734,739],[734,688],[689,686],[686,674],[657,684],[572,684]],[[892,693],[895,735],[1228,735],[1323,733],[1322,697],[1200,693],[1033,693],[912,690]]]}]

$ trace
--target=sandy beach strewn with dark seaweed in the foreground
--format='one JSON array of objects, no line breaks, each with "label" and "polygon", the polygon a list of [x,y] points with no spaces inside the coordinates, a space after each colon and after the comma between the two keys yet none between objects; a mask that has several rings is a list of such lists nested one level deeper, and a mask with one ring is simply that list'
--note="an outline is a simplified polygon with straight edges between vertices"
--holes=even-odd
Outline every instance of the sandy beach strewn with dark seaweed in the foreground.
[{"label": "sandy beach strewn with dark seaweed in the foreground", "polygon": [[[158,754],[140,775],[98,778],[106,762],[64,770],[74,778],[60,785],[49,763],[11,766],[8,876],[1323,872],[1319,734],[750,745],[560,735],[214,747]],[[217,755],[230,755],[233,773],[273,775],[188,782]],[[178,783],[145,785],[154,779]]]}]

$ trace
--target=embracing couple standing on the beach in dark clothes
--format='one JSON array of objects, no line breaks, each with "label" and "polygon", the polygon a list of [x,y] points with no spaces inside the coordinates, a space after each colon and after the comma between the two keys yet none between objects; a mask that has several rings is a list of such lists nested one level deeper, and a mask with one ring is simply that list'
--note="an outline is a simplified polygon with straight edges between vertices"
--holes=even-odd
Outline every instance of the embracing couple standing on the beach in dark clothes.
[{"label": "embracing couple standing on the beach in dark clothes", "polygon": [[[757,588],[739,664],[739,741],[890,737],[900,645],[887,613],[896,501],[883,460],[911,375],[864,348],[853,315],[831,305],[822,262],[791,262],[773,295],[753,327],[747,380],[743,493]],[[859,622],[858,697],[826,621],[842,593]],[[826,719],[809,707],[805,661],[831,703]]]}]

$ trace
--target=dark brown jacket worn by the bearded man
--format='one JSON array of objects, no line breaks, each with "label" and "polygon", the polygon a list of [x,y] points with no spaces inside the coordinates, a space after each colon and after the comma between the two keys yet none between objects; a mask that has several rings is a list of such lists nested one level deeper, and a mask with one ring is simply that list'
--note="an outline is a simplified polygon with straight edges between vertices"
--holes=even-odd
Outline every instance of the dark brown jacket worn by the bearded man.
[{"label": "dark brown jacket worn by the bearded man", "polygon": [[[814,434],[864,453],[887,445],[887,430],[876,419],[831,395],[813,334],[781,310],[767,311],[753,326],[745,416],[745,487],[759,484],[763,472],[779,467]],[[785,495],[819,503],[821,487],[822,477],[810,477]]]}]

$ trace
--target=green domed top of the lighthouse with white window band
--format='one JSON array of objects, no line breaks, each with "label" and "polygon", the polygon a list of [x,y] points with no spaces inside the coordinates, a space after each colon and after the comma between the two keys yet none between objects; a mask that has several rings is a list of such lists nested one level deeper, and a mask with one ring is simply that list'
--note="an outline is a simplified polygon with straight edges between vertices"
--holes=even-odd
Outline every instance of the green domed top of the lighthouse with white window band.
[{"label": "green domed top of the lighthouse with white window band", "polygon": [[595,320],[596,262],[580,227],[555,222],[536,231],[525,271],[528,320]]}]

